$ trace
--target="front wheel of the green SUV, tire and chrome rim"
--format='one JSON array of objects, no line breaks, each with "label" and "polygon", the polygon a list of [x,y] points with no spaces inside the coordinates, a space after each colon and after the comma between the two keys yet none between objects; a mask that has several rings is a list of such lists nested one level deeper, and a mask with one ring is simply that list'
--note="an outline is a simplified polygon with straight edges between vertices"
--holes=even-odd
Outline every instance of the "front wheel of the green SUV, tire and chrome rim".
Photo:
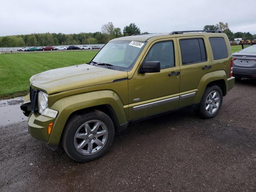
[{"label": "front wheel of the green SUV, tire and chrome rim", "polygon": [[103,156],[114,139],[114,124],[99,110],[72,116],[63,132],[62,146],[77,162],[89,162]]}]

